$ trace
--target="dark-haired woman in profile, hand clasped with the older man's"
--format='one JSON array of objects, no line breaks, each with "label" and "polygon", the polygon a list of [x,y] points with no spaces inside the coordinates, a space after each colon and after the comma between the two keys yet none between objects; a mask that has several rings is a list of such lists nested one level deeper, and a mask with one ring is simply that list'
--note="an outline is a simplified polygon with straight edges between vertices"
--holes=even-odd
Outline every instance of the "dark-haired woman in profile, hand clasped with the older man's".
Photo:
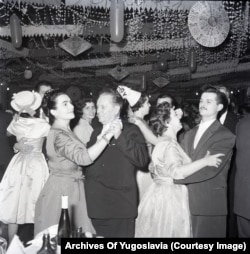
[{"label": "dark-haired woman in profile, hand clasped with the older man's", "polygon": [[80,166],[93,163],[122,126],[118,121],[112,122],[100,139],[87,149],[70,129],[70,120],[75,115],[74,106],[66,93],[58,89],[48,91],[43,99],[43,110],[51,124],[46,142],[50,176],[36,204],[35,234],[58,224],[62,195],[68,196],[72,227],[82,227],[84,232],[94,233],[87,214]]}]

